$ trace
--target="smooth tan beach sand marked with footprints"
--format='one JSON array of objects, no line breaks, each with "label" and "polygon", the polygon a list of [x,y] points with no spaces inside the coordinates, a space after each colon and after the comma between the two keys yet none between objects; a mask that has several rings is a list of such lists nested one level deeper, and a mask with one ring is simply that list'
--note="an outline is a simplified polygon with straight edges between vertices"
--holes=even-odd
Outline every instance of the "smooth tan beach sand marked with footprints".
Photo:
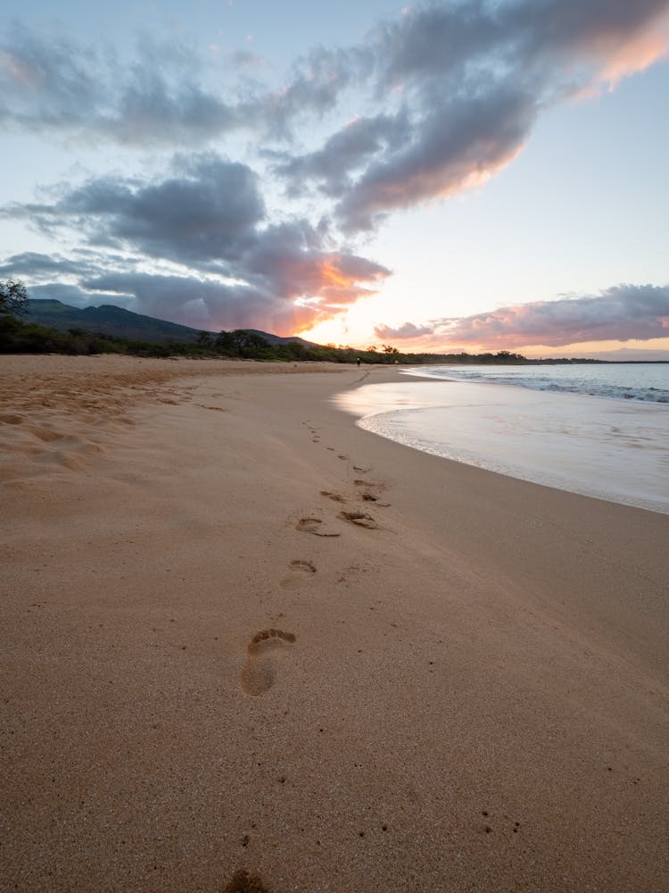
[{"label": "smooth tan beach sand marked with footprints", "polygon": [[0,357],[0,889],[667,889],[669,516],[329,402],[397,376]]}]

